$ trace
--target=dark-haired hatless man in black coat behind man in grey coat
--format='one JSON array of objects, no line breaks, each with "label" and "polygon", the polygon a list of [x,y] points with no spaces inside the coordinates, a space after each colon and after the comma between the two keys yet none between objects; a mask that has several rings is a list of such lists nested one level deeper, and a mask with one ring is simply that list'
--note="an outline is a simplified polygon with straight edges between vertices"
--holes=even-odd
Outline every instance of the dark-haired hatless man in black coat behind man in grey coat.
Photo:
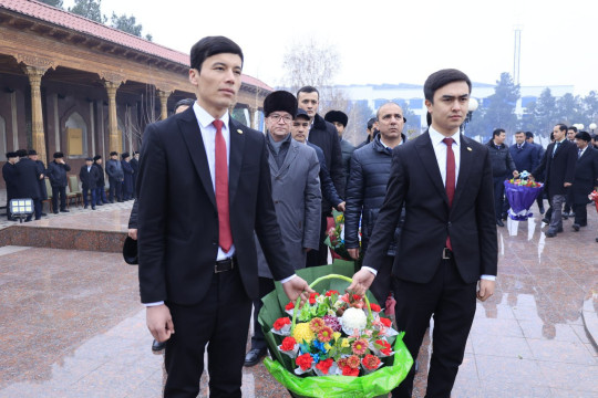
[{"label": "dark-haired hatless man in black coat behind man in grey coat", "polygon": [[[297,92],[299,107],[310,117],[311,129],[308,142],[322,149],[326,166],[330,171],[334,188],[340,195],[344,193],[344,172],[342,170],[342,154],[337,128],[318,115],[320,93],[312,86],[305,86]],[[321,181],[320,181],[321,182]],[[332,205],[322,198],[322,218],[320,228],[320,248],[308,253],[307,266],[317,266],[328,263],[328,247],[324,244],[327,218],[331,216]]]}]

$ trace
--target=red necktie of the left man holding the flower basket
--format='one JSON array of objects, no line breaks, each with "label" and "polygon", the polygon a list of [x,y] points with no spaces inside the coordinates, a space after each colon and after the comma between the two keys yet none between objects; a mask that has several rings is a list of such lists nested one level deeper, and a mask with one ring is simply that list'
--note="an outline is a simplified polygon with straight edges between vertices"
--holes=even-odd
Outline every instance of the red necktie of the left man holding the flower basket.
[{"label": "red necktie of the left man holding the flower basket", "polygon": [[226,161],[226,142],[223,136],[223,121],[214,121],[216,127],[216,207],[218,208],[218,244],[225,253],[233,245],[230,214],[228,212],[228,164]]}]

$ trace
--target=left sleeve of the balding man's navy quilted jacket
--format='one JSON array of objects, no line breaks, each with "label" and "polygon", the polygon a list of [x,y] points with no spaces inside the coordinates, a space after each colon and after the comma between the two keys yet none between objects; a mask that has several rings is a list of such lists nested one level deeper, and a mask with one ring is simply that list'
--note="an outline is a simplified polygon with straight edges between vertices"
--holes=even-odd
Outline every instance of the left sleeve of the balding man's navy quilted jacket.
[{"label": "left sleeve of the balding man's navy quilted jacket", "polygon": [[351,156],[351,174],[347,184],[344,210],[344,245],[359,249],[359,219],[363,208],[363,168],[359,153]]}]

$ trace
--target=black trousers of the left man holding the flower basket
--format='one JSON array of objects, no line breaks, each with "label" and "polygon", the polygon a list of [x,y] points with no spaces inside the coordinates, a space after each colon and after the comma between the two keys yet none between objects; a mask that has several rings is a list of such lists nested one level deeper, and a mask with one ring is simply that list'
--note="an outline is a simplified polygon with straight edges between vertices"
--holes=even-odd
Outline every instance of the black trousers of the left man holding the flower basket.
[{"label": "black trousers of the left man holding the flower basket", "polygon": [[166,305],[176,333],[166,342],[164,397],[197,397],[209,343],[209,396],[240,398],[251,298],[238,270],[214,274],[209,291],[197,304]]}]

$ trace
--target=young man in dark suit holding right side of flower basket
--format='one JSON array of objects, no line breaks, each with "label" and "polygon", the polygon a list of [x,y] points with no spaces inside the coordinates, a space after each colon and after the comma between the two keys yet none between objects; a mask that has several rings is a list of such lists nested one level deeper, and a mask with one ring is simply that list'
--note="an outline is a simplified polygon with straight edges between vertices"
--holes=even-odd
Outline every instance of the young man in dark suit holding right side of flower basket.
[{"label": "young man in dark suit holding right side of flower basket", "polygon": [[[471,81],[457,70],[430,75],[424,85],[430,128],[393,150],[391,175],[363,268],[350,290],[371,285],[405,206],[392,269],[396,323],[416,359],[434,314],[426,397],[448,397],[463,360],[477,298],[494,293],[497,239],[488,148],[463,135]],[[393,390],[411,397],[413,369]]]}]

